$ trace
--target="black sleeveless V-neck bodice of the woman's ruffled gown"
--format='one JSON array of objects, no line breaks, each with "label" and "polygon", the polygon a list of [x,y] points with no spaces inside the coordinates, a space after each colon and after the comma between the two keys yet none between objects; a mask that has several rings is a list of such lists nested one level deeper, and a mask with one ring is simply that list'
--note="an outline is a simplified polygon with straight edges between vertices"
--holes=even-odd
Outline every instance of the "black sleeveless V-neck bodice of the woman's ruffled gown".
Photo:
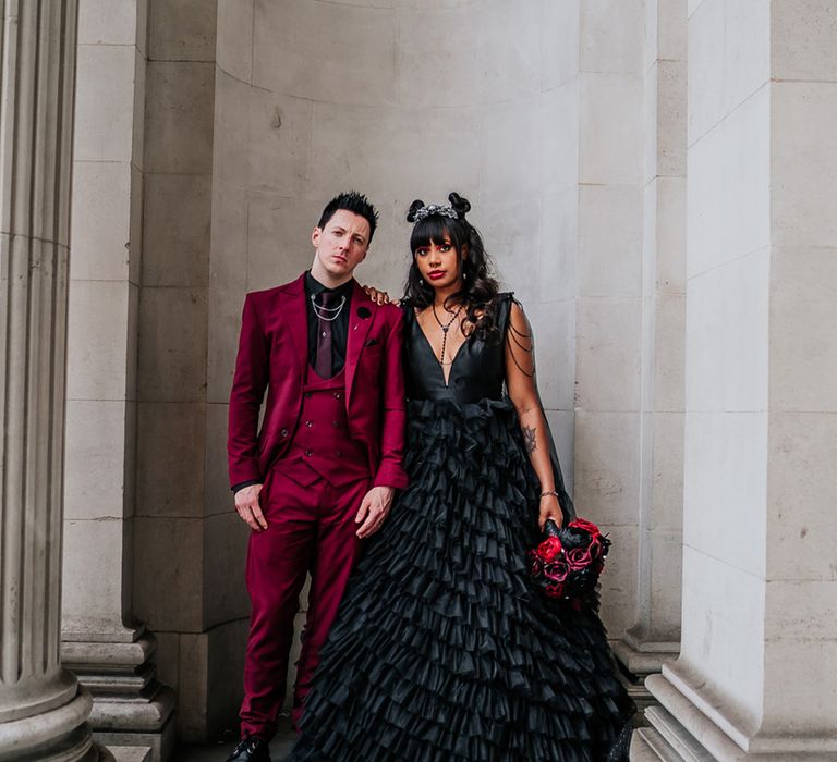
[{"label": "black sleeveless V-neck bodice of the woman's ruffled gown", "polygon": [[501,400],[506,381],[504,339],[511,298],[510,293],[497,296],[495,321],[500,329],[498,341],[485,342],[474,335],[469,336],[453,358],[447,384],[436,353],[415,319],[415,310],[405,306],[404,369],[408,398],[452,400],[460,404]]}]

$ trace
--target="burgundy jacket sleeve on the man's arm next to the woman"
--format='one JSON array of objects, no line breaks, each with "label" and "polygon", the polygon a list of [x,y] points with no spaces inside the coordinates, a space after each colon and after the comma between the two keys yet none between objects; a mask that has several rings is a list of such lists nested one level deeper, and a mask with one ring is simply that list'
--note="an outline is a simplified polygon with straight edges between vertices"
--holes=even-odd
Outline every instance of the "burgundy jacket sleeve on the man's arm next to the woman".
[{"label": "burgundy jacket sleeve on the man's arm next to the woman", "polygon": [[404,471],[404,316],[399,309],[384,348],[381,388],[380,463],[373,480],[374,487],[407,487]]}]

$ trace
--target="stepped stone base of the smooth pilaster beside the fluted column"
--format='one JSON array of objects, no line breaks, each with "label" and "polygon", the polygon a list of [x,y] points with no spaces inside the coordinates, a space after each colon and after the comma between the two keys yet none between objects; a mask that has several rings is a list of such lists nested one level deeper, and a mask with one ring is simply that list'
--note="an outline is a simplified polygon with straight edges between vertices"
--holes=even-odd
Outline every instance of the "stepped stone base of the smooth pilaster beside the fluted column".
[{"label": "stepped stone base of the smooth pilaster beside the fluted column", "polygon": [[154,637],[140,627],[88,634],[84,641],[77,631],[63,638],[62,662],[93,695],[89,723],[94,738],[117,760],[142,762],[146,753],[150,762],[167,760],[175,742],[175,697],[156,679]]}]

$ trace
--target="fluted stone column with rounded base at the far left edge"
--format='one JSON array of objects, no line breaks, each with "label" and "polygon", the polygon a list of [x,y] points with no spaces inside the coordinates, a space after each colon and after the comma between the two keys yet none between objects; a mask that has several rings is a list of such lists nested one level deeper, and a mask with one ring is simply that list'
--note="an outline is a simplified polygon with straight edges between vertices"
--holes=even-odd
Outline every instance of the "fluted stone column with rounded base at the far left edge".
[{"label": "fluted stone column with rounded base at the far left edge", "polygon": [[0,16],[0,760],[93,760],[59,660],[76,4]]}]

